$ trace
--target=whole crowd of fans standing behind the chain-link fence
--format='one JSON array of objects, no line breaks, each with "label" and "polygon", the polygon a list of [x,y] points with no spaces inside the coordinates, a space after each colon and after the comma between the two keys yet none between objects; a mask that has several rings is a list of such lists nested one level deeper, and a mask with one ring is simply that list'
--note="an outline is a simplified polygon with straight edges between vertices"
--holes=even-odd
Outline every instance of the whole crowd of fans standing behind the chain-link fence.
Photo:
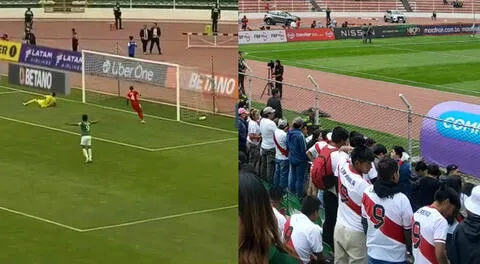
[{"label": "whole crowd of fans standing behind the chain-link fence", "polygon": [[480,186],[458,166],[275,112],[238,109],[240,263],[480,263]]}]

